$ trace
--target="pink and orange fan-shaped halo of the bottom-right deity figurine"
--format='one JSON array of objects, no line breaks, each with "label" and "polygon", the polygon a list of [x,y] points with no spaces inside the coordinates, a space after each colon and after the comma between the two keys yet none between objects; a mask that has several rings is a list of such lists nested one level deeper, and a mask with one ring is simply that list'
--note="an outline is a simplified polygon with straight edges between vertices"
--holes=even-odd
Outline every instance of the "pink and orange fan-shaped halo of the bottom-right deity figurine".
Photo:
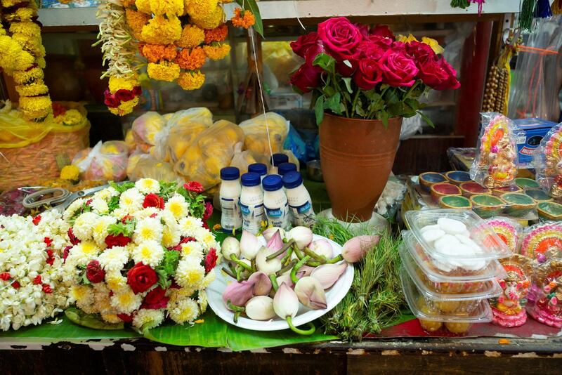
[{"label": "pink and orange fan-shaped halo of the bottom-right deity figurine", "polygon": [[521,242],[521,255],[536,259],[547,251],[562,251],[562,223],[545,222],[526,230]]}]

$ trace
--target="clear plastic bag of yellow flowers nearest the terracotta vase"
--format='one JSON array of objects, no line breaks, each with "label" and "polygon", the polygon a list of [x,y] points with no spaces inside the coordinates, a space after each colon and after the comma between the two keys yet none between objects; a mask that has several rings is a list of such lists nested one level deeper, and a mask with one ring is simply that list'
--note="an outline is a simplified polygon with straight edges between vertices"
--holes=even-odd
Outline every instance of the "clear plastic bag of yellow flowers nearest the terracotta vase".
[{"label": "clear plastic bag of yellow flowers nearest the terracotta vase", "polygon": [[[269,139],[273,153],[283,150],[283,143],[289,133],[289,121],[275,112],[267,113]],[[240,128],[244,131],[244,150],[251,150],[256,154],[270,154],[264,114],[243,121]]]}]

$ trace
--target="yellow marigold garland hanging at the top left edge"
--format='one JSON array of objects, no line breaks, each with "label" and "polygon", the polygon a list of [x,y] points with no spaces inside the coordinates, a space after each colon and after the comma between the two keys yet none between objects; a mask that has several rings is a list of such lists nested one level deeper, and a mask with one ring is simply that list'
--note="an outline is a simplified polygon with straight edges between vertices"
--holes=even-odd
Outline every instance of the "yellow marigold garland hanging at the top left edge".
[{"label": "yellow marigold garland hanging at the top left edge", "polygon": [[[42,122],[51,114],[51,98],[43,80],[45,48],[41,28],[34,22],[34,1],[1,0],[0,67],[13,76],[20,95],[20,110],[27,121]],[[8,35],[9,32],[9,35]]]}]

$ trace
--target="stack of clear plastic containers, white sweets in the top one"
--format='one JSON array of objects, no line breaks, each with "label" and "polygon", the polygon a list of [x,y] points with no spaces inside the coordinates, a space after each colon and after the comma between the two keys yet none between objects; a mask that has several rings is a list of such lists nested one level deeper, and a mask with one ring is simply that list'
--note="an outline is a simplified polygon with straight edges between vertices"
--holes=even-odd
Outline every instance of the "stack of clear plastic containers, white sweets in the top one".
[{"label": "stack of clear plastic containers, white sweets in the top one", "polygon": [[492,321],[488,298],[502,294],[505,271],[497,261],[511,251],[484,221],[467,210],[408,211],[400,258],[404,294],[426,331],[464,334]]}]

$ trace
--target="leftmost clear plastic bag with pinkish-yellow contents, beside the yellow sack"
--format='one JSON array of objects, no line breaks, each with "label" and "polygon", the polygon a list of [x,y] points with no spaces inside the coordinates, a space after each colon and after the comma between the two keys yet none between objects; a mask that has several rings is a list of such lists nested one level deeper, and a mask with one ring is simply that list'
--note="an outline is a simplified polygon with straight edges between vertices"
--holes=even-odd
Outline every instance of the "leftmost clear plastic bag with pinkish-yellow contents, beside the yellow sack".
[{"label": "leftmost clear plastic bag with pinkish-yellow contents, beside the yellow sack", "polygon": [[121,181],[127,176],[129,150],[122,140],[98,142],[92,149],[78,152],[72,164],[80,170],[81,180]]}]

